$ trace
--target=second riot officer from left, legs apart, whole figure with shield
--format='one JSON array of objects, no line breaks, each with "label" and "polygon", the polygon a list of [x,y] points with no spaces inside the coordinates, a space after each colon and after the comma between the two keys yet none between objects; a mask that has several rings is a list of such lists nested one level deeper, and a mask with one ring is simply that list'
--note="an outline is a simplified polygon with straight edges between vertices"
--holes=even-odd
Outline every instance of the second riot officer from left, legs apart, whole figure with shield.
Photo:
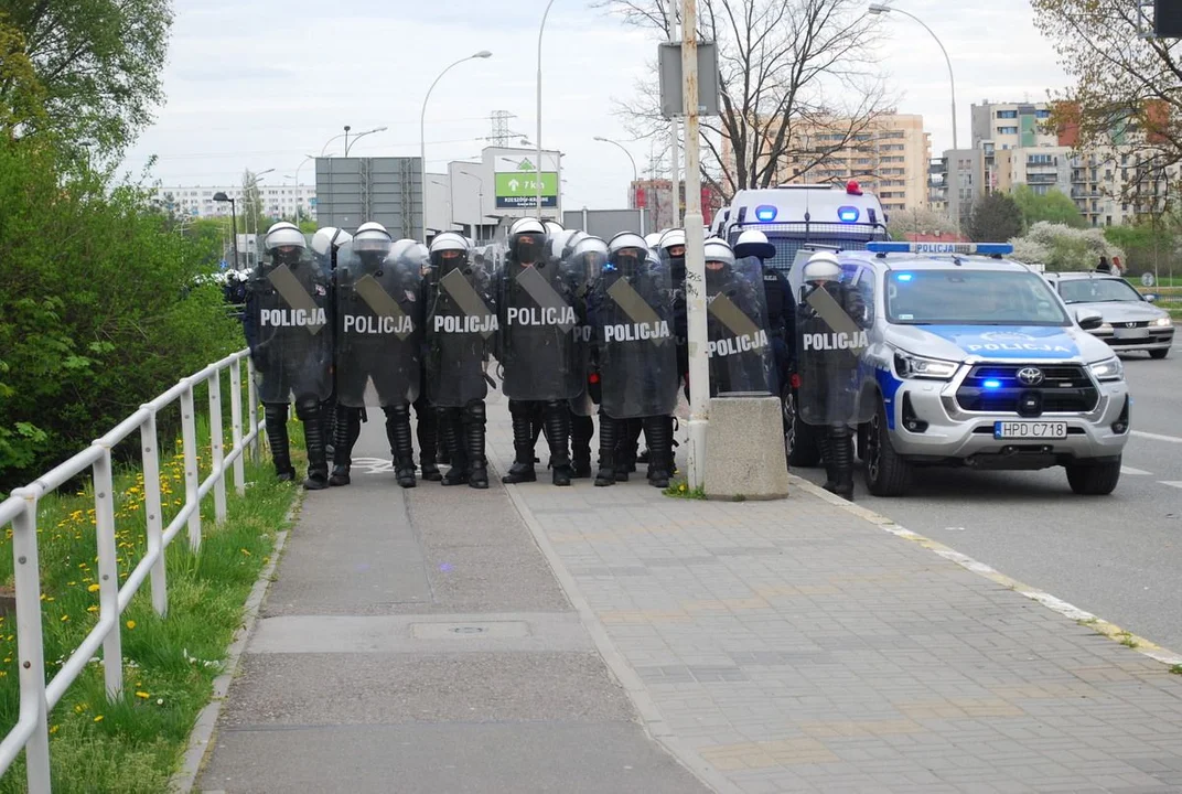
[{"label": "second riot officer from left, legs apart, whole figure with shield", "polygon": [[[407,245],[409,242],[409,246]],[[330,484],[349,483],[350,454],[369,383],[385,414],[397,482],[415,487],[410,403],[418,397],[422,301],[421,262],[414,241],[397,250],[379,223],[364,223],[340,248],[336,271],[338,434]]]}]

